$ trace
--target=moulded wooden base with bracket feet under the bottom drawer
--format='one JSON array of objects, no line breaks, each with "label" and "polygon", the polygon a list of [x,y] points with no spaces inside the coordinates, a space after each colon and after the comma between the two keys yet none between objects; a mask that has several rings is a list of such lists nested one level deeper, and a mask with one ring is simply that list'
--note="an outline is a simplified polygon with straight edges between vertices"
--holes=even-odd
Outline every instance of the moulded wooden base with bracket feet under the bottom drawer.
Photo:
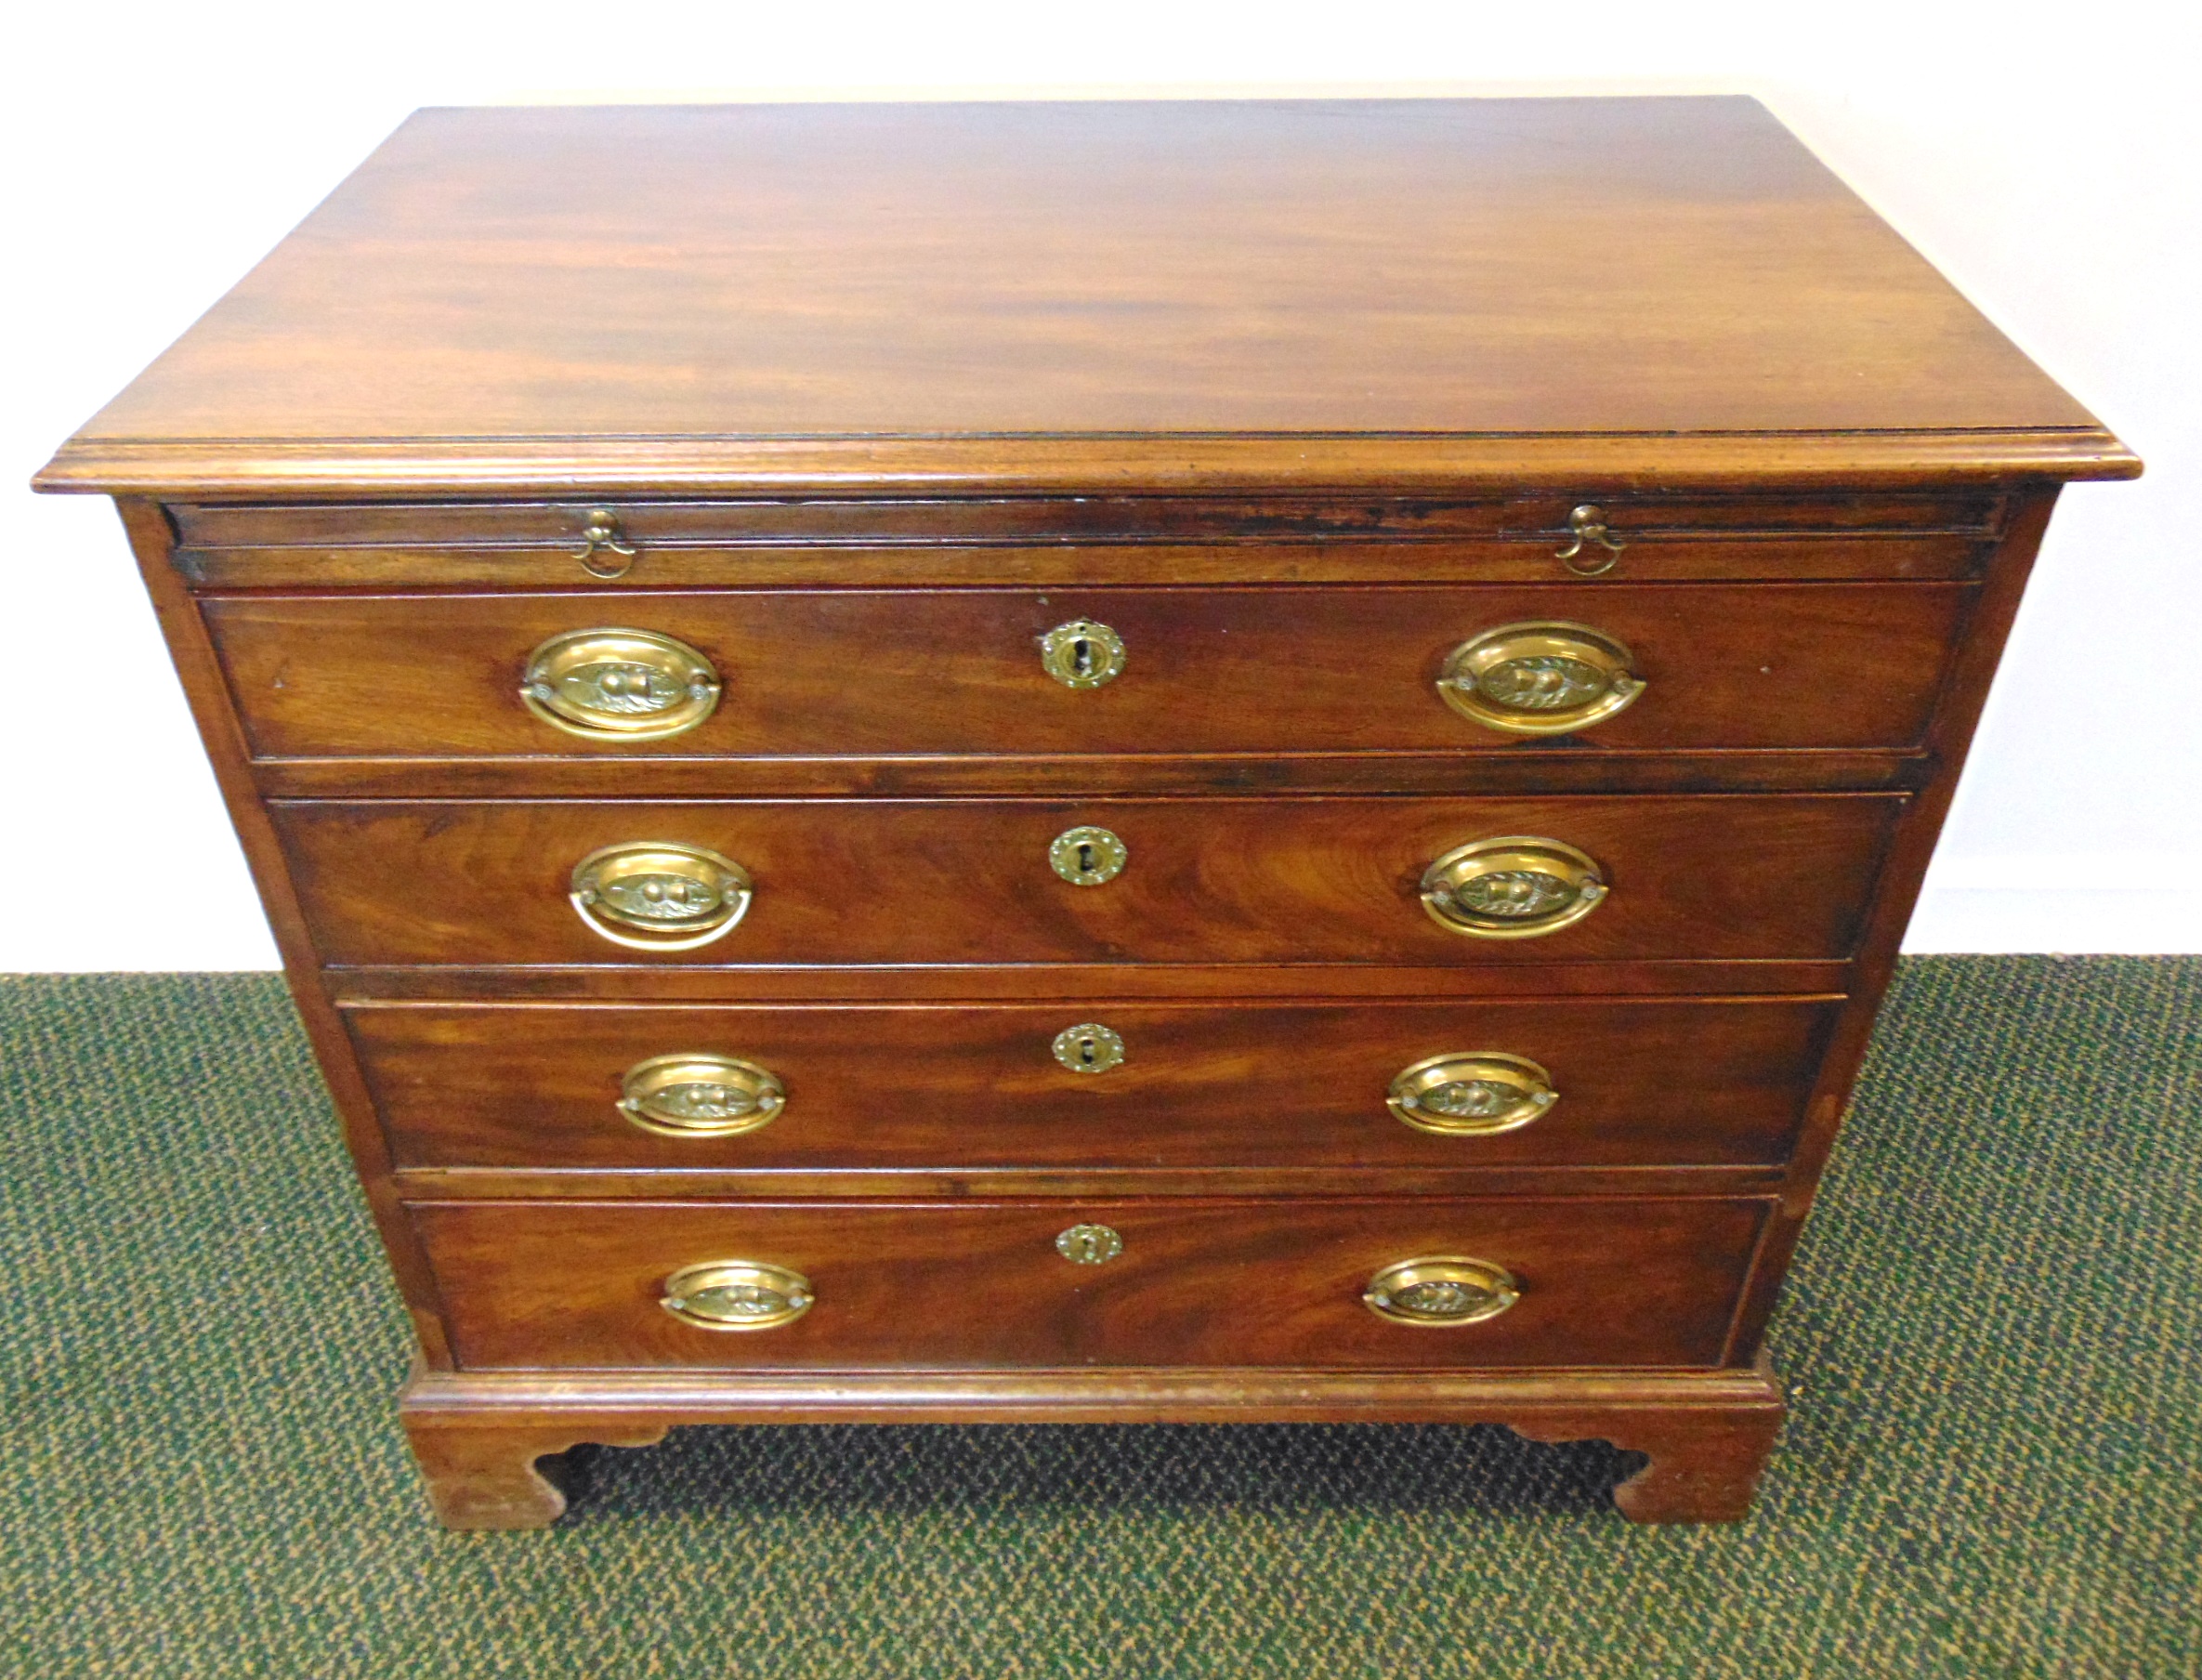
[{"label": "moulded wooden base with bracket feet under the bottom drawer", "polygon": [[447,1528],[548,1528],[537,1469],[581,1442],[652,1447],[680,1425],[1495,1422],[1605,1440],[1649,1462],[1614,1488],[1632,1521],[1740,1521],[1784,1418],[1759,1361],[1724,1372],[429,1372],[399,1416]]}]

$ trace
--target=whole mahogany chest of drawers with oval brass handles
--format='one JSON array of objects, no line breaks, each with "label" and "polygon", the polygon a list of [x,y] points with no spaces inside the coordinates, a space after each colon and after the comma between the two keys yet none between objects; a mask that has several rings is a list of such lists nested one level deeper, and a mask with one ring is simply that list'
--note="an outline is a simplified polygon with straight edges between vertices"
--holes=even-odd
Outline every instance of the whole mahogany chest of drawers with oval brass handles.
[{"label": "whole mahogany chest of drawers with oval brass handles", "polygon": [[[73,438],[458,1526],[683,1422],[1744,1513],[2061,482],[1742,99],[423,112]],[[1858,1303],[1869,1312],[1872,1303]]]}]

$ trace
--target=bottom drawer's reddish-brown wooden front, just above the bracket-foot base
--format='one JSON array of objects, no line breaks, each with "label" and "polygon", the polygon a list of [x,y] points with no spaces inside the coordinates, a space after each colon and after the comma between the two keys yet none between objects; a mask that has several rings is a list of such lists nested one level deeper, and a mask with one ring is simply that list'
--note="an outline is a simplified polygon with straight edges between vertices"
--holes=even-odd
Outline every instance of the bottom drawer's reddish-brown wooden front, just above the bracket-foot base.
[{"label": "bottom drawer's reddish-brown wooden front, just above the bracket-foot base", "polygon": [[[467,1370],[1718,1365],[1764,1200],[423,1202]],[[1068,1235],[1079,1226],[1099,1233]],[[1101,1255],[1081,1264],[1070,1253]],[[1469,1257],[1519,1299],[1378,1317],[1396,1262]],[[799,1317],[698,1328],[667,1279],[799,1275]],[[720,1297],[724,1303],[724,1297]],[[786,1306],[782,1301],[782,1306]]]}]

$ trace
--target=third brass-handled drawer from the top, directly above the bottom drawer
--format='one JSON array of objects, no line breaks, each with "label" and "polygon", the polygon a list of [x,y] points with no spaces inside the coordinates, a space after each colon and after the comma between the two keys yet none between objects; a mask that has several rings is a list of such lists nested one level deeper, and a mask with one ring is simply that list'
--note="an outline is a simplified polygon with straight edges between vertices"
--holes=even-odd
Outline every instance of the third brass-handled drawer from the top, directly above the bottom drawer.
[{"label": "third brass-handled drawer from the top, directly above the bottom drawer", "polygon": [[399,1004],[346,1019],[401,1167],[1480,1167],[1779,1160],[1839,1008]]}]

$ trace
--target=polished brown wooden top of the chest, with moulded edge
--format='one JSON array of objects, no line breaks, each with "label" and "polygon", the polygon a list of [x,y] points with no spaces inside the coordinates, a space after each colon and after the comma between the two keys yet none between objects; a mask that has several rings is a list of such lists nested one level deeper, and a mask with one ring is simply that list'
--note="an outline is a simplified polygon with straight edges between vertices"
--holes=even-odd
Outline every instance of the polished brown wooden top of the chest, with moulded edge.
[{"label": "polished brown wooden top of the chest, with moulded edge", "polygon": [[1493,436],[2134,465],[1755,101],[1097,101],[418,112],[42,484],[1519,476]]}]

